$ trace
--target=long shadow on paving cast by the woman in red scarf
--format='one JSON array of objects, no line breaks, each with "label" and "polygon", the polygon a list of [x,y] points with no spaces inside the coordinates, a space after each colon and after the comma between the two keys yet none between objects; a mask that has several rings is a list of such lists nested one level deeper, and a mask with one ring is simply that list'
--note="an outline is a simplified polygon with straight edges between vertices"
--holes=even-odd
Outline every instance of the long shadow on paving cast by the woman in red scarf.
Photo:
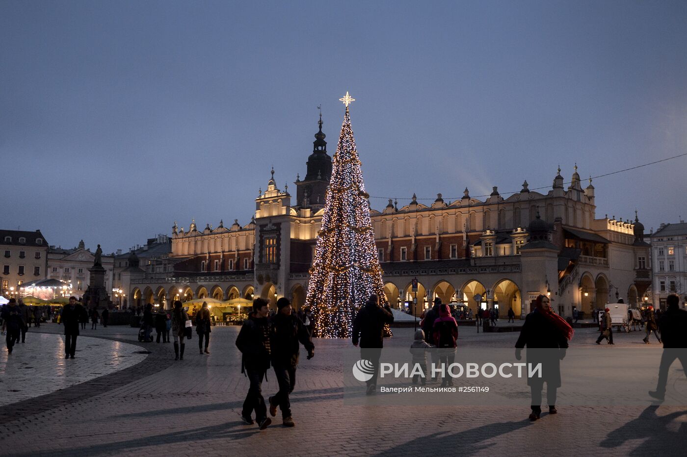
[{"label": "long shadow on paving cast by the woman in red scarf", "polygon": [[517,422],[495,422],[480,427],[471,428],[458,433],[434,433],[420,436],[407,443],[400,443],[385,450],[376,456],[398,455],[460,455],[471,456],[488,449],[495,443],[482,443],[491,441],[499,435],[515,432],[532,424],[529,420]]}]

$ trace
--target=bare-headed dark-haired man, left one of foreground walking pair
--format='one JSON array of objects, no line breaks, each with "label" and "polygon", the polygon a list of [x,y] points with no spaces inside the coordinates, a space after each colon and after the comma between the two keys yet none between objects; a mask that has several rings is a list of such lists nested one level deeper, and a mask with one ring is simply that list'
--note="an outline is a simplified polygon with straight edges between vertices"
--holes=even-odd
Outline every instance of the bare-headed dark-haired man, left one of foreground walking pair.
[{"label": "bare-headed dark-haired man, left one of foreground walking pair", "polygon": [[251,418],[253,410],[260,430],[264,430],[272,420],[267,417],[267,406],[262,397],[262,378],[269,368],[269,307],[263,298],[253,302],[253,312],[243,323],[236,337],[236,347],[241,351],[241,373],[246,373],[251,383],[243,401],[241,419],[247,424],[254,423]]}]

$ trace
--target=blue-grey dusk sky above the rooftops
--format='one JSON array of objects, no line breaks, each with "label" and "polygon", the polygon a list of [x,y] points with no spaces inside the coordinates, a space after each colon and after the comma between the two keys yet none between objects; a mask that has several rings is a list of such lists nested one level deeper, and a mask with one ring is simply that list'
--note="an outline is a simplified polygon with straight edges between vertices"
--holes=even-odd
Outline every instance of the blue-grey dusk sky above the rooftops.
[{"label": "blue-grey dusk sky above the rooftops", "polygon": [[[4,0],[0,43],[0,228],[63,247],[247,224],[271,165],[295,204],[346,91],[379,210],[687,152],[684,0]],[[686,219],[686,170],[594,180],[596,217]]]}]

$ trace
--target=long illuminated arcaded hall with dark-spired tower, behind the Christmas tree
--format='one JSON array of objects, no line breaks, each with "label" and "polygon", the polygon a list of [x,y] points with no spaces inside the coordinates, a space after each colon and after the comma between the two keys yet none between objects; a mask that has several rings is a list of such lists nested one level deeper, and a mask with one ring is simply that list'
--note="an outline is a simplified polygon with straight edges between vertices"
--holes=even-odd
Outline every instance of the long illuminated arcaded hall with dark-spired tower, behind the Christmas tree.
[{"label": "long illuminated arcaded hall with dark-spired tower, behind the Christmas tree", "polygon": [[[199,229],[193,221],[185,230],[175,222],[164,260],[171,267],[128,269],[121,287],[131,304],[262,296],[274,307],[286,296],[300,307],[332,169],[322,119],[306,166],[295,196],[278,188],[272,169],[247,224]],[[564,181],[559,169],[545,193],[525,182],[506,198],[497,187],[484,200],[465,189],[453,202],[438,194],[426,205],[413,196],[403,207],[389,200],[381,211],[370,209],[386,299],[416,315],[436,296],[473,312],[497,307],[501,316],[509,307],[524,316],[547,293],[564,316],[572,307],[588,316],[618,298],[638,303],[651,285],[644,227],[636,215],[634,222],[596,218],[594,186],[590,179],[583,187],[577,167]]]}]

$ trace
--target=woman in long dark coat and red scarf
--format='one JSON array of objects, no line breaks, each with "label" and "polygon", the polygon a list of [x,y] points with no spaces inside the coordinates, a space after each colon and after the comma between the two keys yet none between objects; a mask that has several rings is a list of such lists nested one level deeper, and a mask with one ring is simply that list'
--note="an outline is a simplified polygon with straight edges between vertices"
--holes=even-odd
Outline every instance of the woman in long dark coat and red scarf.
[{"label": "woman in long dark coat and red scarf", "polygon": [[[561,360],[565,357],[567,342],[574,334],[570,324],[551,309],[548,296],[537,296],[536,308],[527,315],[515,343],[515,358],[520,360],[520,350],[528,348],[528,363],[542,364],[542,376],[528,378],[532,391],[530,420],[536,421],[541,414],[541,390],[546,382],[546,399],[549,414],[556,414],[556,390],[561,387]],[[532,351],[532,349],[536,349]],[[554,349],[557,349],[554,351]]]}]

